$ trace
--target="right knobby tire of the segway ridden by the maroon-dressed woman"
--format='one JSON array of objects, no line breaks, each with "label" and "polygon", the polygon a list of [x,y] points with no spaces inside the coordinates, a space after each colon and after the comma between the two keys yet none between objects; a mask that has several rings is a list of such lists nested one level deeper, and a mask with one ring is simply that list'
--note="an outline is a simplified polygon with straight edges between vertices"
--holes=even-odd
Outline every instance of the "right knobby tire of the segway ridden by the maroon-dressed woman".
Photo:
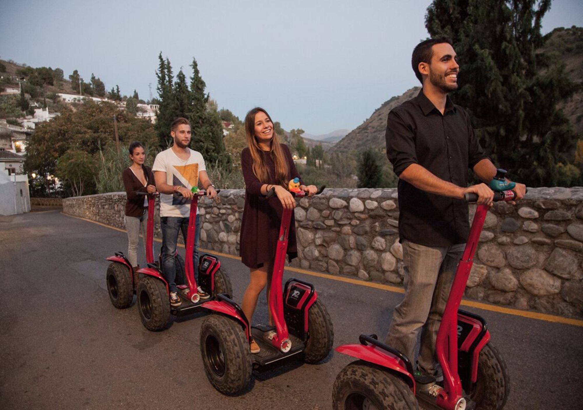
[{"label": "right knobby tire of the segway ridden by the maroon-dressed woman", "polygon": [[324,303],[316,299],[308,310],[308,342],[304,350],[304,362],[318,363],[324,360],[334,343],[332,319]]}]

